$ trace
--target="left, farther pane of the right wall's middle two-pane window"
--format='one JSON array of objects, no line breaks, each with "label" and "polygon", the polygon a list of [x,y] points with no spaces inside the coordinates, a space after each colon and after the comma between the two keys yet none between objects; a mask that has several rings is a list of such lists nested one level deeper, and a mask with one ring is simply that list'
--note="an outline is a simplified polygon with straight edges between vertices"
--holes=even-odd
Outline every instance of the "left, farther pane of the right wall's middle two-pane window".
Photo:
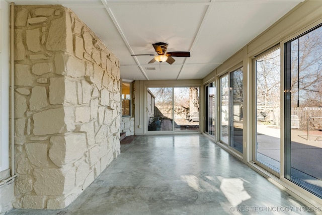
[{"label": "left, farther pane of the right wall's middle two-pane window", "polygon": [[229,82],[228,75],[220,78],[220,113],[221,129],[220,140],[228,144],[228,119],[229,119]]}]

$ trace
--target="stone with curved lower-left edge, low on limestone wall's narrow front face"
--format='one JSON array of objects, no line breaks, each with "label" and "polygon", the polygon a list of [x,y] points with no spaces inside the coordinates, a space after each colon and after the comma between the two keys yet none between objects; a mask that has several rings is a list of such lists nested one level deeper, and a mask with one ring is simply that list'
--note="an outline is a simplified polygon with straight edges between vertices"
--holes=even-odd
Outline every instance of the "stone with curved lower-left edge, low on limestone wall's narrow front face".
[{"label": "stone with curved lower-left edge, low on limestone wall's narrow front face", "polygon": [[47,167],[49,165],[47,159],[47,144],[32,142],[26,144],[25,147],[30,163],[36,167]]}]

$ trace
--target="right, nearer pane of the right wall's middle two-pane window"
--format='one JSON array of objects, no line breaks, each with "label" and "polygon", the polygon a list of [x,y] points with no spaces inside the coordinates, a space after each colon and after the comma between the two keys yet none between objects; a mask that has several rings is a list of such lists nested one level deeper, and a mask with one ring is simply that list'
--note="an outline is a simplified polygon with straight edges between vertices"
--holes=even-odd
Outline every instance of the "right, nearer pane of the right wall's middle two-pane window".
[{"label": "right, nearer pane of the right wall's middle two-pane window", "polygon": [[243,153],[243,68],[230,73],[229,146]]}]

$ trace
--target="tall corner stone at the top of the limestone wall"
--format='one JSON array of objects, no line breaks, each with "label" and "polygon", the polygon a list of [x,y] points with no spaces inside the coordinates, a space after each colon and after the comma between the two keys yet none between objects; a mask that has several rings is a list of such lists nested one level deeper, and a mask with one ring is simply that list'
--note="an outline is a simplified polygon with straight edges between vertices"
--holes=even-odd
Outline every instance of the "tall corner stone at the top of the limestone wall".
[{"label": "tall corner stone at the top of the limestone wall", "polygon": [[65,15],[50,22],[46,43],[47,50],[72,53],[72,32],[68,17]]}]

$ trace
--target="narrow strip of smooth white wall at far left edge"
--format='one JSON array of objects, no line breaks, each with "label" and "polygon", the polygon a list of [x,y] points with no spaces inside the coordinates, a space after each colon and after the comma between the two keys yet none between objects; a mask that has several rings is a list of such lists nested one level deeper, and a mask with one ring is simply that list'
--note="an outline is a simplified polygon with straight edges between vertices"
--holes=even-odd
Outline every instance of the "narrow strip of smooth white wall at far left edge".
[{"label": "narrow strip of smooth white wall at far left edge", "polygon": [[9,168],[9,6],[0,1],[0,171]]}]

